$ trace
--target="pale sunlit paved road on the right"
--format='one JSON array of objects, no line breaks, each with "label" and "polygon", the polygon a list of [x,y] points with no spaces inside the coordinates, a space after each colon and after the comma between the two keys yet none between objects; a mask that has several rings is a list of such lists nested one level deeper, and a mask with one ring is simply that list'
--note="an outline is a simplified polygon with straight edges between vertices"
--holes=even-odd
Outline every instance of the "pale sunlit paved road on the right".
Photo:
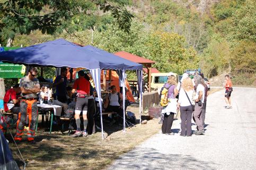
[{"label": "pale sunlit paved road on the right", "polygon": [[181,137],[176,120],[174,136],[160,132],[108,169],[256,169],[256,88],[234,88],[233,109],[223,96],[208,97],[204,136]]}]

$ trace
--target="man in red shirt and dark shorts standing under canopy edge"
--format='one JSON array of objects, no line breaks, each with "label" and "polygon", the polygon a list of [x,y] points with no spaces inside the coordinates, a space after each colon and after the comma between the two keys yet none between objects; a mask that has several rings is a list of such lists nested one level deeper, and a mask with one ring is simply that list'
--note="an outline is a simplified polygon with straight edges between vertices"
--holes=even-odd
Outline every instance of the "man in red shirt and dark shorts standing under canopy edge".
[{"label": "man in red shirt and dark shorts standing under canopy edge", "polygon": [[[84,78],[84,71],[78,71],[78,79],[75,80],[73,85],[72,93],[77,92],[76,97],[76,106],[75,106],[75,120],[76,120],[76,132],[73,137],[78,136],[87,136],[86,127],[88,124],[87,120],[87,106],[88,106],[88,97],[90,96],[90,82]],[[80,113],[83,111],[84,119],[84,131],[81,131],[80,124]]]}]

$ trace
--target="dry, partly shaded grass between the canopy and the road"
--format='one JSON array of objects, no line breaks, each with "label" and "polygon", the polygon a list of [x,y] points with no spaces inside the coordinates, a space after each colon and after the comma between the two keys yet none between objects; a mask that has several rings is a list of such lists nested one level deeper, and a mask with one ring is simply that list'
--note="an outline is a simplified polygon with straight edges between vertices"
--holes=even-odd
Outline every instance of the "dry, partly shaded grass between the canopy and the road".
[{"label": "dry, partly shaded grass between the canopy and the road", "polygon": [[[136,118],[139,118],[137,105],[129,106],[127,111],[135,113]],[[103,125],[105,132],[108,133],[105,140],[102,140],[101,132],[86,138],[73,138],[57,131],[49,135],[49,132],[41,129],[35,139],[37,143],[28,145],[26,136],[23,136],[24,141],[18,146],[27,162],[26,169],[103,169],[118,156],[133,149],[161,128],[157,119],[149,120],[147,124],[136,124],[136,127],[127,128],[126,132],[116,124],[110,126],[108,123],[103,123]],[[7,138],[10,139],[10,136]],[[10,148],[16,162],[22,165],[13,142],[10,143]]]}]

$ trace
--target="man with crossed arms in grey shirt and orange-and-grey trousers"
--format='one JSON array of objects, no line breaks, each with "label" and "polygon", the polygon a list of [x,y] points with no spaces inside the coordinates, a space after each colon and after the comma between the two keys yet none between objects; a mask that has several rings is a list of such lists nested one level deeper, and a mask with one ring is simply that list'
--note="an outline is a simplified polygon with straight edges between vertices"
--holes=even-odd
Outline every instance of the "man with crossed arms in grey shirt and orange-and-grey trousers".
[{"label": "man with crossed arms in grey shirt and orange-and-grey trousers", "polygon": [[37,69],[31,67],[27,76],[20,81],[21,103],[15,141],[21,141],[27,115],[29,115],[28,141],[34,143],[34,130],[38,117],[37,93],[40,92],[40,84],[37,78]]}]

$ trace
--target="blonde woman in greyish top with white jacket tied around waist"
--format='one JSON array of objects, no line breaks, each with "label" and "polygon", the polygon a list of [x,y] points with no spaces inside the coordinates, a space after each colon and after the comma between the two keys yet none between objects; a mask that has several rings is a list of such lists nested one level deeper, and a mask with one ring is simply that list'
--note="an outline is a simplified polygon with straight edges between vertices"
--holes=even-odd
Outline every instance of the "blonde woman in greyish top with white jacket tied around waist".
[{"label": "blonde woman in greyish top with white jacket tied around waist", "polygon": [[178,91],[176,90],[176,77],[171,75],[167,81],[167,83],[163,86],[167,88],[168,94],[167,97],[169,99],[168,105],[164,106],[162,109],[161,114],[164,114],[164,121],[162,124],[162,133],[166,135],[174,135],[171,131],[172,122],[174,113],[177,113],[176,110],[176,100],[175,96],[177,95]]}]

